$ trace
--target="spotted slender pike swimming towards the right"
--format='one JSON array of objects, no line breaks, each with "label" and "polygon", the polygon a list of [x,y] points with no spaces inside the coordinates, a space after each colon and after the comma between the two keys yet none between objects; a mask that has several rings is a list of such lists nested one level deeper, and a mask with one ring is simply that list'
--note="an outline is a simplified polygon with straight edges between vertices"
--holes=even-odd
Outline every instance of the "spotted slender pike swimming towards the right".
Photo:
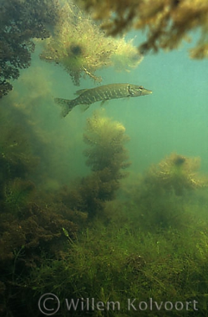
[{"label": "spotted slender pike swimming towards the right", "polygon": [[91,89],[79,89],[76,94],[78,97],[71,100],[61,98],[54,99],[54,101],[62,107],[63,117],[67,116],[72,108],[78,104],[86,105],[86,110],[91,104],[97,101],[105,102],[108,99],[145,96],[145,94],[152,94],[152,91],[138,85],[110,84]]}]

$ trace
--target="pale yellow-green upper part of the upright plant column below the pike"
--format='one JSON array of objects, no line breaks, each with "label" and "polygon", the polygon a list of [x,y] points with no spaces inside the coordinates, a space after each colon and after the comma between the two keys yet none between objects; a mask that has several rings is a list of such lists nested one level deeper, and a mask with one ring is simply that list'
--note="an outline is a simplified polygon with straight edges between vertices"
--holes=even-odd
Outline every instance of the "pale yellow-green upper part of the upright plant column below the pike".
[{"label": "pale yellow-green upper part of the upright plant column below the pike", "polygon": [[122,123],[102,116],[98,111],[86,121],[84,142],[89,149],[84,151],[88,158],[86,164],[93,171],[110,170],[112,178],[122,178],[121,169],[129,166],[127,150],[124,144],[129,140]]}]

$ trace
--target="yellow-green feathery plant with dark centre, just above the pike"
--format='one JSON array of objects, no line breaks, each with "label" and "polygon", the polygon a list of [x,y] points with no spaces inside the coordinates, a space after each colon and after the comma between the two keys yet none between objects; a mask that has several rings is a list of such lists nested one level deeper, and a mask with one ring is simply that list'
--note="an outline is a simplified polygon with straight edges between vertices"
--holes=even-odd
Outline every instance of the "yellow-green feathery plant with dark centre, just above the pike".
[{"label": "yellow-green feathery plant with dark centre, just above the pike", "polygon": [[100,68],[115,64],[119,70],[128,70],[142,60],[132,41],[106,37],[99,25],[93,23],[90,16],[72,1],[65,1],[54,35],[46,42],[40,57],[60,63],[75,85],[79,85],[82,75],[101,81],[102,78],[95,75]]}]

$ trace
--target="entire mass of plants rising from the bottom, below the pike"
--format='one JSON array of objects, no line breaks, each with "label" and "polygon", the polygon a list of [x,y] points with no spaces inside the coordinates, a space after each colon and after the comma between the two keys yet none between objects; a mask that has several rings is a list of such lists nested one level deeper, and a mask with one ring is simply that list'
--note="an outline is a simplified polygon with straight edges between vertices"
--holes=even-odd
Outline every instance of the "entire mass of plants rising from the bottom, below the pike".
[{"label": "entire mass of plants rising from the bottom, below the pike", "polygon": [[[34,178],[44,156],[26,146],[30,137],[11,120],[0,140],[2,316],[41,316],[37,302],[48,292],[60,299],[57,316],[207,316],[208,194],[200,160],[170,154],[129,187],[124,125],[99,111],[84,131],[89,175],[48,192]],[[82,303],[67,311],[65,298]],[[102,311],[87,303],[92,298]],[[133,306],[128,299],[136,299]]]}]

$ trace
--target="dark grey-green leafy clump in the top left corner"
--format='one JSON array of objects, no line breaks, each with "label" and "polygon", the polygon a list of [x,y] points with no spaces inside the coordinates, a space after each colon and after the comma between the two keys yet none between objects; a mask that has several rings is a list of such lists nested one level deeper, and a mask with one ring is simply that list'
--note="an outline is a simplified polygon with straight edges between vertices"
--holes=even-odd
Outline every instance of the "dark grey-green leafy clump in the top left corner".
[{"label": "dark grey-green leafy clump in the top left corner", "polygon": [[49,36],[46,24],[58,18],[58,0],[0,1],[0,98],[12,89],[9,80],[30,66],[32,39]]}]

